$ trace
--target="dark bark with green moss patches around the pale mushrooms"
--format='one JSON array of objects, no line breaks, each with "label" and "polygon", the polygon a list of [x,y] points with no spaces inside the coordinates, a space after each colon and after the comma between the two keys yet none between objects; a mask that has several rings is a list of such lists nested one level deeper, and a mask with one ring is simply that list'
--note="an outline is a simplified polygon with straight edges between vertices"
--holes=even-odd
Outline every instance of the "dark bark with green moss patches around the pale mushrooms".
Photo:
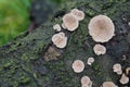
[{"label": "dark bark with green moss patches around the pale mushrooms", "polygon": [[[62,16],[73,8],[86,13],[77,30],[69,33],[65,49],[57,49],[51,37],[55,32],[52,26],[62,24]],[[96,44],[88,34],[88,23],[98,14],[109,16],[116,27],[116,36],[103,44],[107,53],[96,57],[93,46]],[[100,87],[103,82],[112,80],[119,87],[119,75],[113,73],[113,65],[120,63],[122,70],[130,65],[130,1],[129,0],[73,0],[67,1],[61,10],[46,24],[31,33],[24,33],[12,42],[0,48],[0,86],[1,87],[80,87],[80,78],[88,75],[93,87]],[[49,47],[55,48],[61,55],[57,60],[44,61]],[[92,66],[87,65],[87,59],[93,57]],[[126,60],[122,58],[126,57]],[[74,60],[80,59],[86,69],[76,74],[72,70]],[[129,83],[130,84],[130,83]],[[127,86],[130,86],[127,84]]]}]

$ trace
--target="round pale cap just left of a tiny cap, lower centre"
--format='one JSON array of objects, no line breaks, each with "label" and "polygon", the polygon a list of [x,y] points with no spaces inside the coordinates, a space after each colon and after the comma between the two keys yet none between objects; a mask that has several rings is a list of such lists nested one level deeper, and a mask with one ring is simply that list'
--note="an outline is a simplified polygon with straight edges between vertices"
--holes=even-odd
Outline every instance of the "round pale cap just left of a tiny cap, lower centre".
[{"label": "round pale cap just left of a tiny cap, lower centre", "polygon": [[74,61],[73,70],[75,73],[81,73],[84,70],[84,63],[81,60]]}]

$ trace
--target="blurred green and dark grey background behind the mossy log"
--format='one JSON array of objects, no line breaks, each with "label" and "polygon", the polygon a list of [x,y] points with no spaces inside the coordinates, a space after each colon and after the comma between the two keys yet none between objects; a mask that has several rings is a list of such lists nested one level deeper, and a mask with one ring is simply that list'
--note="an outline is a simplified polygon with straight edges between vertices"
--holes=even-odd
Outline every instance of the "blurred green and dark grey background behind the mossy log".
[{"label": "blurred green and dark grey background behind the mossy log", "polygon": [[49,18],[64,0],[0,0],[0,47]]}]

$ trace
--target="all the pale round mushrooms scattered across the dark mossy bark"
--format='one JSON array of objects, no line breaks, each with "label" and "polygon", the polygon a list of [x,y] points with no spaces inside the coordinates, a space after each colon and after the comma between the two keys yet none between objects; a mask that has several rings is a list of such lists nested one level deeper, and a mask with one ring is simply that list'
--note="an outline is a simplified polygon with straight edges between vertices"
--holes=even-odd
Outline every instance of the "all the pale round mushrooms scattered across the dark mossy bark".
[{"label": "all the pale round mushrooms scattered across the dark mossy bark", "polygon": [[[53,29],[55,29],[58,33],[52,36],[52,42],[57,48],[65,48],[67,45],[67,37],[65,36],[65,33],[62,32],[62,29],[64,28],[69,32],[74,32],[78,28],[79,22],[82,21],[83,18],[84,18],[84,13],[78,9],[73,9],[69,13],[65,14],[63,16],[62,27],[60,24],[55,24],[53,26]],[[113,36],[115,36],[114,23],[106,15],[96,15],[92,17],[88,25],[88,28],[89,28],[89,35],[96,42],[102,42],[102,44],[107,42],[113,38]],[[101,44],[96,44],[93,47],[93,50],[96,55],[106,53],[106,48]],[[89,58],[87,61],[88,65],[92,65],[93,62],[94,62],[94,58]],[[81,60],[75,60],[72,67],[75,73],[81,73],[84,70],[84,63]],[[118,75],[122,74],[121,65],[118,63],[113,66],[113,70]],[[119,82],[121,84],[127,84],[129,82],[129,77],[127,77],[126,74],[122,74]],[[91,79],[88,76],[81,77],[81,86],[92,87]],[[117,87],[117,86],[113,82],[104,82],[102,87]]]}]

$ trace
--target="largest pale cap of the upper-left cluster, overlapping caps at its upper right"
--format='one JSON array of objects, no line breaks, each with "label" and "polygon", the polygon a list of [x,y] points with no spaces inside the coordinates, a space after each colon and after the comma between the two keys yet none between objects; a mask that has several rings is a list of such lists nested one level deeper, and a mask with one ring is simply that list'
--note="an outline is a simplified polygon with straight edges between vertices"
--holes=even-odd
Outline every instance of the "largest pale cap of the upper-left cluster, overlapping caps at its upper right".
[{"label": "largest pale cap of the upper-left cluster, overlapping caps at its upper right", "polygon": [[76,18],[76,16],[74,16],[74,15],[70,14],[70,13],[65,14],[65,15],[63,16],[63,23],[64,23],[65,27],[66,27],[68,30],[70,30],[70,32],[77,29],[78,26],[79,26],[79,22],[78,22],[78,20]]}]

